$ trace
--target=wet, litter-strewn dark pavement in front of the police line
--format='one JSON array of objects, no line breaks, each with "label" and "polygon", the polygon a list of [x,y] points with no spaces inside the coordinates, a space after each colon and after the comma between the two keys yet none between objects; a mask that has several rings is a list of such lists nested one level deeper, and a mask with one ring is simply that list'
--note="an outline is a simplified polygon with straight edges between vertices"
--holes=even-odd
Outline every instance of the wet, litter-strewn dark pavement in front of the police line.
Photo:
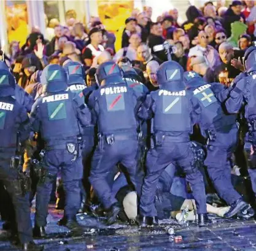
[{"label": "wet, litter-strewn dark pavement in front of the police line", "polygon": [[[195,223],[189,223],[187,226],[187,224],[178,225],[174,220],[164,220],[161,221],[163,226],[142,229],[137,226],[118,224],[106,227],[102,218],[96,219],[80,214],[77,215],[77,220],[87,226],[88,231],[84,236],[71,236],[67,228],[56,225],[62,215],[63,211],[50,209],[46,228],[48,237],[35,240],[37,244],[43,245],[46,251],[256,251],[255,220],[212,218],[213,223],[203,228],[199,228]],[[166,231],[169,226],[174,228],[175,236],[182,236],[182,240],[169,236]],[[0,232],[0,237],[4,234]],[[0,250],[18,249],[2,237]]]}]

